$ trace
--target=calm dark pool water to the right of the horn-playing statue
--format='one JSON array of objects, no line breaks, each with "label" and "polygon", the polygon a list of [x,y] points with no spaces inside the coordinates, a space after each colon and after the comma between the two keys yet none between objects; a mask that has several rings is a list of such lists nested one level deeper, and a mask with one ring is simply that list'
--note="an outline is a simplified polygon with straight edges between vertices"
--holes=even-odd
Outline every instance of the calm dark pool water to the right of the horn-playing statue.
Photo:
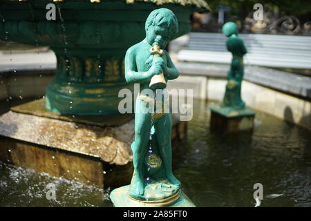
[{"label": "calm dark pool water to the right of the horn-playing statue", "polygon": [[254,206],[255,183],[263,195],[283,193],[261,206],[311,206],[310,131],[256,113],[252,134],[211,133],[208,104],[194,106],[175,173],[197,206]]}]

